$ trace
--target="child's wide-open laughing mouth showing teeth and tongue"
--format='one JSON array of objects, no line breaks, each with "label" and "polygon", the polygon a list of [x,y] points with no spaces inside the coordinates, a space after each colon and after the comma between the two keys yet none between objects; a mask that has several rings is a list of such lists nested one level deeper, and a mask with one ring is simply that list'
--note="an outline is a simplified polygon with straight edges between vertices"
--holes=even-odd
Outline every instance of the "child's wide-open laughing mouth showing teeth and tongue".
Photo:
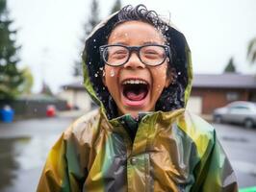
[{"label": "child's wide-open laughing mouth showing teeth and tongue", "polygon": [[122,86],[123,96],[131,102],[143,100],[149,91],[149,84],[143,80],[126,80]]}]

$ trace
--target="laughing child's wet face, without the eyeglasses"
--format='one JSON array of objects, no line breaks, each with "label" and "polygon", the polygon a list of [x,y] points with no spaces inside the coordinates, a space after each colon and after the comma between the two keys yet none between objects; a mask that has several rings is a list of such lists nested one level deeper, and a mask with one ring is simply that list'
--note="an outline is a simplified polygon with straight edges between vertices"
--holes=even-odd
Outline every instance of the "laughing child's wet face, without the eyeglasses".
[{"label": "laughing child's wet face, without the eyeglasses", "polygon": [[[165,38],[150,24],[141,21],[126,21],[115,27],[108,44],[141,46],[165,44]],[[138,116],[140,111],[155,109],[164,87],[170,84],[166,77],[167,60],[158,66],[148,66],[132,52],[130,59],[121,66],[105,64],[104,84],[108,87],[117,105],[119,115],[130,113]]]}]

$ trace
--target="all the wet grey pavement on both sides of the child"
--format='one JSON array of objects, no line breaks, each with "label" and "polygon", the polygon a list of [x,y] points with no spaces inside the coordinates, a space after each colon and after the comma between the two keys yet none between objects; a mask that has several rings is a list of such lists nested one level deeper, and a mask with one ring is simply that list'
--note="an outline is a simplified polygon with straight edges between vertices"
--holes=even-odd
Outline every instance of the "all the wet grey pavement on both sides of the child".
[{"label": "all the wet grey pavement on both sides of the child", "polygon": [[[47,153],[74,116],[0,123],[0,191],[36,191]],[[256,186],[256,129],[215,125],[240,187]]]}]

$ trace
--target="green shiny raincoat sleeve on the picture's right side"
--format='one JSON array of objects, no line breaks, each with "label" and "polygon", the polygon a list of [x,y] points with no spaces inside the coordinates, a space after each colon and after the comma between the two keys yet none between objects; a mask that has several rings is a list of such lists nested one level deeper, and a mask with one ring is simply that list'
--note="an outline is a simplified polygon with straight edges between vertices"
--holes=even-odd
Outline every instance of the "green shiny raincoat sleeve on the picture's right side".
[{"label": "green shiny raincoat sleeve on the picture's right side", "polygon": [[225,155],[214,132],[213,142],[198,165],[198,173],[194,190],[213,192],[238,191],[237,179],[231,164]]}]

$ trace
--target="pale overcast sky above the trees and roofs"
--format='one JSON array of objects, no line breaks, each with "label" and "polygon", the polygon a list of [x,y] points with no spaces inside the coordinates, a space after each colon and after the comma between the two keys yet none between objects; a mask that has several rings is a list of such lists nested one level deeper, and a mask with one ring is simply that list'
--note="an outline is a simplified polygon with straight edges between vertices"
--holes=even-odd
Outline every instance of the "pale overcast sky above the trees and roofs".
[{"label": "pale overcast sky above the trees and roofs", "polygon": [[[105,18],[115,0],[100,0]],[[192,50],[194,73],[221,73],[234,57],[238,71],[256,73],[246,60],[248,41],[256,36],[255,0],[122,0],[123,5],[143,3],[169,17]],[[72,83],[74,60],[81,52],[83,24],[90,13],[89,0],[8,0],[14,27],[22,45],[20,66],[29,66],[38,91],[42,78],[56,92]]]}]

